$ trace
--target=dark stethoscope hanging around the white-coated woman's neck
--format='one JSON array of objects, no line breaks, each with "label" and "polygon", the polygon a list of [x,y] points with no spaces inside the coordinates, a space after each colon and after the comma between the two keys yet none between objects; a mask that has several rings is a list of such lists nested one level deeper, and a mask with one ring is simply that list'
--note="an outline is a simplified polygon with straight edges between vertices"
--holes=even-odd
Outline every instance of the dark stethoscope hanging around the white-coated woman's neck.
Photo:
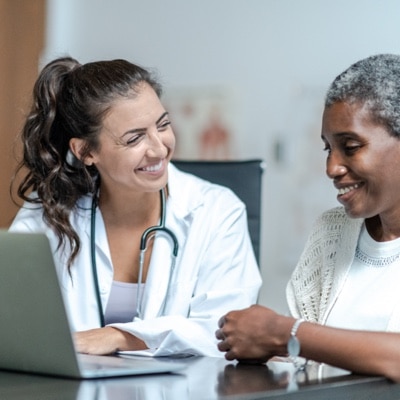
[{"label": "dark stethoscope hanging around the white-coated woman's neck", "polygon": [[[175,267],[176,257],[178,256],[178,239],[175,234],[165,226],[165,211],[166,211],[166,199],[165,199],[165,189],[160,190],[160,199],[161,199],[161,210],[160,210],[160,223],[155,226],[150,226],[147,228],[140,239],[140,254],[139,254],[139,276],[138,276],[138,290],[137,290],[137,299],[136,299],[136,317],[141,318],[141,305],[142,305],[142,279],[143,279],[143,266],[144,266],[144,256],[147,250],[147,243],[149,239],[153,238],[156,232],[164,232],[166,233],[172,240],[173,250],[172,250],[172,260],[171,260],[171,271],[169,275],[169,279],[171,280],[172,271]],[[99,288],[99,280],[97,275],[97,266],[96,266],[96,208],[97,208],[97,195],[93,196],[92,200],[92,213],[90,219],[90,252],[92,259],[92,272],[93,272],[93,280],[94,287],[96,292],[96,302],[99,310],[99,318],[101,326],[105,326],[104,321],[104,311],[101,303],[100,297],[100,288]],[[170,286],[170,281],[168,282],[168,287]],[[164,303],[165,306],[165,303]]]}]

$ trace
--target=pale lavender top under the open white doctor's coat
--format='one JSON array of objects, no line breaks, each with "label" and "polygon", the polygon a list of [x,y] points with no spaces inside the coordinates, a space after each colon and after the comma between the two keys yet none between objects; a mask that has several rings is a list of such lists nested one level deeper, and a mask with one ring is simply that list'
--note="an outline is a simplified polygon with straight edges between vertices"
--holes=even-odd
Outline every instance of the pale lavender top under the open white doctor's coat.
[{"label": "pale lavender top under the open white doctor's coat", "polygon": [[[113,281],[104,314],[105,324],[132,322],[136,315],[137,283]],[[143,295],[144,285],[141,286]]]}]

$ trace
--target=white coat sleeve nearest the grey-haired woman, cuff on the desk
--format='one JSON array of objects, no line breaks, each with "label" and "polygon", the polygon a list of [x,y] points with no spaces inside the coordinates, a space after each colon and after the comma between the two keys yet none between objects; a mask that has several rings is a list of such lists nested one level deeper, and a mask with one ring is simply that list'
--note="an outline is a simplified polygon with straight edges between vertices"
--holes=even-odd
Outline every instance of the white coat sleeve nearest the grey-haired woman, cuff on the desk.
[{"label": "white coat sleeve nearest the grey-haired woman, cuff on the desk", "polygon": [[181,248],[182,260],[176,265],[166,312],[113,324],[142,339],[149,349],[157,349],[157,356],[222,356],[214,336],[218,319],[232,308],[249,307],[257,301],[261,277],[245,208],[233,195],[220,197],[200,210],[192,224]]}]

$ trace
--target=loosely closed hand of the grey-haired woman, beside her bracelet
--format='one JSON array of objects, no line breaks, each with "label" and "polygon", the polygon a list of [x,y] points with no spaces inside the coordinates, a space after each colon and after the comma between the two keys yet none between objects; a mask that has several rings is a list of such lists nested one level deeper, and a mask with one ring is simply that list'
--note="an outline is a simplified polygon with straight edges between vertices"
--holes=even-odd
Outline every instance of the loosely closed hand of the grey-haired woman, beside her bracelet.
[{"label": "loosely closed hand of the grey-haired woman, beside her bracelet", "polygon": [[286,356],[286,345],[294,319],[269,308],[253,305],[230,311],[219,320],[215,336],[218,349],[227,360],[265,363],[274,356]]}]

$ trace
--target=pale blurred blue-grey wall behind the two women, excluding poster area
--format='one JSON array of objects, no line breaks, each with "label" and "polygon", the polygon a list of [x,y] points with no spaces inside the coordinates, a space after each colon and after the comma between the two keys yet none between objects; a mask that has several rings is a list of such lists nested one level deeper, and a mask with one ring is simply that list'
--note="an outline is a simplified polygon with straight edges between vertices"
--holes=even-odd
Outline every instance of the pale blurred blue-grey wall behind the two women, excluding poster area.
[{"label": "pale blurred blue-grey wall behind the two women, excluding poster area", "polygon": [[[285,311],[284,287],[310,225],[336,205],[324,174],[324,92],[351,63],[400,53],[398,0],[48,0],[43,62],[126,58],[166,90],[238,93],[240,157],[266,161],[260,302]],[[279,145],[282,157],[277,160]]]}]

